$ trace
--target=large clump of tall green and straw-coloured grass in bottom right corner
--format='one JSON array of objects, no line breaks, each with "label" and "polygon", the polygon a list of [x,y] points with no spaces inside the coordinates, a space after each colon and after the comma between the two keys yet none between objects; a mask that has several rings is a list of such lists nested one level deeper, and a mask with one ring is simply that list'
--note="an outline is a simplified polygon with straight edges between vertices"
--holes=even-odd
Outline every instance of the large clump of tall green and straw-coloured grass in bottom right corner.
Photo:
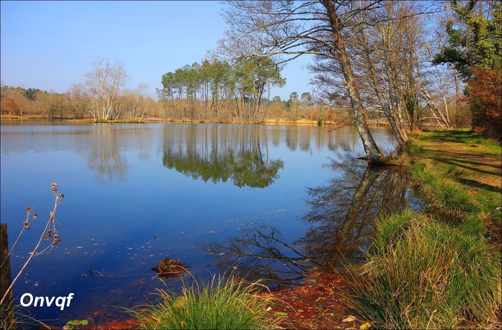
[{"label": "large clump of tall green and straw-coloured grass in bottom right corner", "polygon": [[382,216],[352,294],[383,328],[457,328],[498,321],[500,264],[472,224],[450,227],[411,210]]}]

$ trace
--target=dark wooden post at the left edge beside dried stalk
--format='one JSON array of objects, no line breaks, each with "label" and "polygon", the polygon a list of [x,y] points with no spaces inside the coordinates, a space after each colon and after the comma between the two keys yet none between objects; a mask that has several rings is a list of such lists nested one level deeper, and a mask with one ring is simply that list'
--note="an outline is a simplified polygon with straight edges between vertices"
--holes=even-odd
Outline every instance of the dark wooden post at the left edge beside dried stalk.
[{"label": "dark wooden post at the left edge beside dried stalk", "polygon": [[[5,261],[5,262],[4,262]],[[7,224],[0,224],[0,297],[3,297],[9,286],[12,283],[11,276],[11,258],[9,257],[9,240],[7,235]],[[14,309],[13,309],[13,294],[12,290],[7,296],[5,305],[2,306],[2,324],[13,325]],[[5,322],[4,318],[7,318]]]}]

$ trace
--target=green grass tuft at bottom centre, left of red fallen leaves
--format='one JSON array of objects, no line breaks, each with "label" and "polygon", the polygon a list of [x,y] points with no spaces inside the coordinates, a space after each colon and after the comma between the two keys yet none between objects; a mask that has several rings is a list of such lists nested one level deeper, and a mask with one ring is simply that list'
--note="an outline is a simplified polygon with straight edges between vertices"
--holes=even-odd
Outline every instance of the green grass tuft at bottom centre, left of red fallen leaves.
[{"label": "green grass tuft at bottom centre, left of red fallen leaves", "polygon": [[159,290],[160,302],[136,311],[145,329],[263,329],[275,328],[269,301],[258,295],[261,286],[234,277],[213,277],[205,284],[185,286],[182,294]]}]

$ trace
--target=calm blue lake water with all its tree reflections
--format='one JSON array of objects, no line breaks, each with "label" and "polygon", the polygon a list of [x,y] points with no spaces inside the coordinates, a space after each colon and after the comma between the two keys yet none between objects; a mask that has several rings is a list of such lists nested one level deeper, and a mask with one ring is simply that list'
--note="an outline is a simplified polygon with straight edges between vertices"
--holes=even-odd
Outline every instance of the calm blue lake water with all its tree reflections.
[{"label": "calm blue lake water with all its tree reflections", "polygon": [[[375,138],[393,148],[388,130]],[[165,257],[196,278],[233,271],[271,286],[357,259],[353,247],[367,244],[372,214],[410,199],[399,170],[367,169],[354,159],[362,154],[354,127],[2,121],[10,246],[25,207],[39,214],[11,257],[13,274],[45,226],[51,182],[65,194],[56,214],[62,241],[33,259],[15,299],[74,292],[63,312],[30,310],[61,325],[98,310],[120,318],[109,306],[155,299],[162,284],[151,268]],[[176,288],[180,279],[167,283]]]}]

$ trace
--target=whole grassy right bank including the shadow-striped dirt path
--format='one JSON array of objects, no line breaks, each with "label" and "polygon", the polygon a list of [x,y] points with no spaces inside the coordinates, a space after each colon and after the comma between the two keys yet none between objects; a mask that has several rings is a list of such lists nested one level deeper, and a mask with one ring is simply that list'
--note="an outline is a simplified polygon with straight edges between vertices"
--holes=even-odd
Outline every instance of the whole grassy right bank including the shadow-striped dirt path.
[{"label": "whole grassy right bank including the shadow-striped dirt path", "polygon": [[427,205],[383,214],[352,296],[382,328],[500,327],[500,145],[467,130],[410,143]]}]

